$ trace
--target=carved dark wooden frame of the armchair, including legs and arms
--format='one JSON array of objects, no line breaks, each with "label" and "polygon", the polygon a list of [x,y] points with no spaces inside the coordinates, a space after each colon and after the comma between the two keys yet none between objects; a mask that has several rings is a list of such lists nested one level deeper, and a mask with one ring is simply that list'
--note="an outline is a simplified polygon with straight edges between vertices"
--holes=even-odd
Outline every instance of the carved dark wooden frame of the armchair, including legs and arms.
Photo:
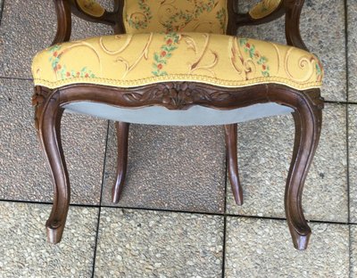
[{"label": "carved dark wooden frame of the armchair, including legs and arms", "polygon": [[[303,0],[284,0],[275,12],[254,20],[249,13],[236,11],[237,1],[228,0],[228,35],[236,35],[237,28],[276,20],[285,14],[286,41],[306,49],[299,31],[299,19]],[[54,0],[58,29],[54,43],[62,43],[71,37],[71,13],[84,20],[111,25],[116,34],[124,32],[120,20],[123,1],[114,0],[113,12],[94,17],[82,11],[74,0]],[[149,94],[151,91],[155,94]],[[197,93],[199,92],[199,94]],[[135,95],[135,97],[133,97]],[[170,110],[185,110],[193,105],[203,105],[218,110],[242,108],[255,103],[276,102],[294,110],[295,144],[290,170],[286,180],[286,220],[296,249],[306,249],[311,229],[303,216],[303,184],[317,148],[321,129],[323,99],[320,89],[299,91],[277,84],[228,88],[190,82],[164,82],[148,86],[120,88],[78,84],[62,86],[54,90],[36,86],[33,96],[37,134],[46,154],[54,179],[54,205],[46,222],[48,241],[61,241],[70,204],[70,181],[61,143],[61,119],[63,106],[71,102],[101,102],[124,108],[140,108],[159,105]],[[127,170],[129,123],[117,122],[118,157],[117,180],[112,188],[112,201],[120,200]],[[228,176],[237,204],[243,202],[237,168],[237,124],[225,126],[228,155]]]}]

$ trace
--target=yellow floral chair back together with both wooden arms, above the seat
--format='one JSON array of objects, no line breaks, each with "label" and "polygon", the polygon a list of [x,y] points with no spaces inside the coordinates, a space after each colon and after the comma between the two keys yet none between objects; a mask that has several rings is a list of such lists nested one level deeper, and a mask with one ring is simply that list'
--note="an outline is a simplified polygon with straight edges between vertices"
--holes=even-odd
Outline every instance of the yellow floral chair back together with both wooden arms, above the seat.
[{"label": "yellow floral chair back together with both wooden arms, above the seat", "polygon": [[53,44],[71,38],[71,12],[84,20],[112,25],[116,34],[148,32],[204,32],[236,35],[237,28],[258,25],[286,15],[288,45],[306,50],[299,20],[304,0],[261,0],[246,13],[237,0],[112,0],[107,12],[95,0],[54,0],[57,33]]}]

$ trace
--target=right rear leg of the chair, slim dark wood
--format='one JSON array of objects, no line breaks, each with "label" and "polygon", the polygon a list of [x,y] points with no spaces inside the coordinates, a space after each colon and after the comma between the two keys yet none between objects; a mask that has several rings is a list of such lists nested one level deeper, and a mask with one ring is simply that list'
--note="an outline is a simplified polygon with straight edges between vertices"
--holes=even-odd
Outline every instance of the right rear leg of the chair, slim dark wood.
[{"label": "right rear leg of the chair, slim dark wood", "polygon": [[239,183],[237,161],[237,124],[225,125],[228,176],[238,206],[243,205],[243,190]]}]

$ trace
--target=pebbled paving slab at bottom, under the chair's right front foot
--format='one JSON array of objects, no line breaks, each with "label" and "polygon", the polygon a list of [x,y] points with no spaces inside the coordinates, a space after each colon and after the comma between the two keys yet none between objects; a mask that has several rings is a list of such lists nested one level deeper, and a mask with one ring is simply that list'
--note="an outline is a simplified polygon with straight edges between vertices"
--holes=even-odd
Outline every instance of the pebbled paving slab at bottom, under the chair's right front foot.
[{"label": "pebbled paving slab at bottom, under the chair's right front foot", "polygon": [[226,276],[339,277],[349,274],[348,225],[311,224],[308,249],[294,249],[286,221],[228,217]]}]

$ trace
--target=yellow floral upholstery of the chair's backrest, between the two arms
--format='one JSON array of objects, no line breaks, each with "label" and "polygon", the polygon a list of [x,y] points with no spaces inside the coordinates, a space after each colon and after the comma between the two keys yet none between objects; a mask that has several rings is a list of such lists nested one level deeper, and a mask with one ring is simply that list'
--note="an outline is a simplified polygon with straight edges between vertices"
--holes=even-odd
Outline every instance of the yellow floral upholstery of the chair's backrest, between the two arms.
[{"label": "yellow floral upholstery of the chair's backrest, between the two arms", "polygon": [[126,33],[206,32],[224,34],[227,0],[125,1]]}]

